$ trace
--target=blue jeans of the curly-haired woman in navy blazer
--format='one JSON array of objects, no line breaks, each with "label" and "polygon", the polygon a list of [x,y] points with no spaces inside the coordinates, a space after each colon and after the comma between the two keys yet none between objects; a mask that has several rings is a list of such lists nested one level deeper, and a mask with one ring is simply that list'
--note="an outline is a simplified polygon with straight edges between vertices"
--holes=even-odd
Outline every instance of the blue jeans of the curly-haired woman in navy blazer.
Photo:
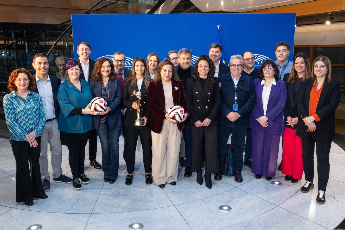
[{"label": "blue jeans of the curly-haired woman in navy blazer", "polygon": [[97,133],[102,148],[104,178],[116,180],[119,169],[119,137],[121,127],[109,130],[108,122],[99,124]]}]

